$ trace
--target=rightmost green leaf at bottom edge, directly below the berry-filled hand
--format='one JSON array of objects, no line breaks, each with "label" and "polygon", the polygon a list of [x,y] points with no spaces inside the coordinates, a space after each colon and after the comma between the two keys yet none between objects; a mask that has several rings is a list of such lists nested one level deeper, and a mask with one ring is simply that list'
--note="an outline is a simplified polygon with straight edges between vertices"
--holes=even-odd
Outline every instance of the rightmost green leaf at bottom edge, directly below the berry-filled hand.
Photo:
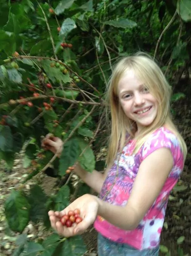
[{"label": "rightmost green leaf at bottom edge, directly below the berry-filled hand", "polygon": [[[82,256],[86,252],[86,246],[81,236],[70,237],[62,245],[61,255]],[[58,254],[57,254],[58,255]]]}]

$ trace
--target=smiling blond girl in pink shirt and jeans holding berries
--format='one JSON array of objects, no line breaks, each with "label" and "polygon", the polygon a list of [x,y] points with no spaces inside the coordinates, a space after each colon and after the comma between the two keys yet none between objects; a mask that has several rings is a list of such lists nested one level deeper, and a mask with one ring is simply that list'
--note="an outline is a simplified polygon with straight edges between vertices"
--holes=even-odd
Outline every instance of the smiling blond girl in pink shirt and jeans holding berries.
[{"label": "smiling blond girl in pink shirt and jeans holding berries", "polygon": [[[107,170],[89,173],[79,164],[74,170],[99,197],[85,194],[61,212],[50,210],[58,234],[82,234],[94,223],[99,256],[158,255],[168,197],[186,157],[186,144],[170,117],[170,95],[150,57],[138,53],[120,60],[107,89],[112,121]],[[47,136],[44,143],[54,153],[62,148],[57,137]],[[83,221],[62,226],[60,217],[75,208]]]}]

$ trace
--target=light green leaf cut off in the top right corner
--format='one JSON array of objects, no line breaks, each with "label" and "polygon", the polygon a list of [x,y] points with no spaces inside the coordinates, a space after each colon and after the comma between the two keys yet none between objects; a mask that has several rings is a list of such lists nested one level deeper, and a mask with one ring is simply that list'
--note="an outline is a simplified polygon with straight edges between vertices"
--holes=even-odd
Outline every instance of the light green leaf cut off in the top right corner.
[{"label": "light green leaf cut off in the top right corner", "polygon": [[178,0],[177,11],[183,21],[191,21],[191,0]]}]

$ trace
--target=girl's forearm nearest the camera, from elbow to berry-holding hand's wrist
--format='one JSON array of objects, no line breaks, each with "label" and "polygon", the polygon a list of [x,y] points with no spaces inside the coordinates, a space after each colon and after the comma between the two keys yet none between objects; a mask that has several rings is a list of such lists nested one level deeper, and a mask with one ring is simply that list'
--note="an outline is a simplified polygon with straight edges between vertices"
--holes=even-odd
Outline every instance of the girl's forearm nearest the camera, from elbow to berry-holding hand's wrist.
[{"label": "girl's forearm nearest the camera, from elbow to berry-holding hand's wrist", "polygon": [[104,202],[98,197],[98,215],[120,229],[132,230],[139,224],[139,217],[136,211],[129,205],[118,206]]}]

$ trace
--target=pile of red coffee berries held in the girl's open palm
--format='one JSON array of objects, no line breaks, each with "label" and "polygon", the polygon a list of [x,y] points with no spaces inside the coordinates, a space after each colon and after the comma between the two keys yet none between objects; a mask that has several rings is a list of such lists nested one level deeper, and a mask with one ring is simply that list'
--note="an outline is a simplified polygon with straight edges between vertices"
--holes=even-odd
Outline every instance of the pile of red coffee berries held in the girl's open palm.
[{"label": "pile of red coffee berries held in the girl's open palm", "polygon": [[63,226],[71,227],[73,223],[80,223],[82,218],[80,217],[80,210],[70,210],[68,214],[65,214],[60,218],[60,222]]}]

